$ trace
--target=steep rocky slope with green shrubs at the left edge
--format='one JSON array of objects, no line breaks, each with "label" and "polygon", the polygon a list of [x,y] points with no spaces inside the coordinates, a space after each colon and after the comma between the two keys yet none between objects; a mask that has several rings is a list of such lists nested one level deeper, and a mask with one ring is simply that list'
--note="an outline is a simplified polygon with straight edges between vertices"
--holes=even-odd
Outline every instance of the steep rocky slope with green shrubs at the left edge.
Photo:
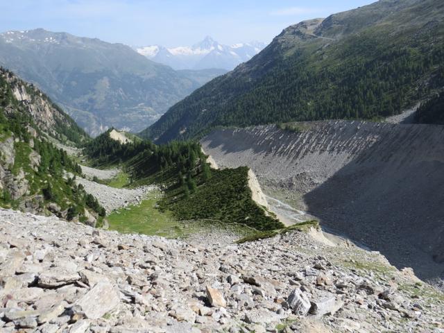
[{"label": "steep rocky slope with green shrubs at the left edge", "polygon": [[54,139],[79,144],[87,135],[40,90],[0,69],[0,207],[95,225],[105,212],[75,185],[81,169]]}]

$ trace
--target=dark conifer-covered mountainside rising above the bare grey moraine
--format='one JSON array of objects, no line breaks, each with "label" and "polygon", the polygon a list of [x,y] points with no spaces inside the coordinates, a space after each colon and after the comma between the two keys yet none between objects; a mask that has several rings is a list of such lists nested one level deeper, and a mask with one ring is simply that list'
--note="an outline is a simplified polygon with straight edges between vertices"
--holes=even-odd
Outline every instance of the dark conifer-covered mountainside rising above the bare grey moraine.
[{"label": "dark conifer-covered mountainside rising above the bare grey moraine", "polygon": [[442,1],[381,0],[290,26],[143,134],[164,142],[215,126],[398,114],[444,86],[443,18]]}]

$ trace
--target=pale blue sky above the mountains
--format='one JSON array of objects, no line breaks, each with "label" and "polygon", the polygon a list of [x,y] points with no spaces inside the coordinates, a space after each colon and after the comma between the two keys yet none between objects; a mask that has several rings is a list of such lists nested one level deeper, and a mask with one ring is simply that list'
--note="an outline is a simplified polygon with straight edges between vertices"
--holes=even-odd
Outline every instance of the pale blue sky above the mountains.
[{"label": "pale blue sky above the mountains", "polygon": [[374,0],[0,0],[0,31],[46,28],[107,42],[191,45],[270,42],[304,19],[327,17]]}]

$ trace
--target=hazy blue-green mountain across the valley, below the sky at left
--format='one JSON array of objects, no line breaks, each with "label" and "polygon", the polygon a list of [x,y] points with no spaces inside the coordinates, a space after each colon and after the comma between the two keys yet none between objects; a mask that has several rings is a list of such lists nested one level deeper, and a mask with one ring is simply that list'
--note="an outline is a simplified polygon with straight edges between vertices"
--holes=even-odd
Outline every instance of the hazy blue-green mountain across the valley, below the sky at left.
[{"label": "hazy blue-green mountain across the valley, below the sky at left", "polygon": [[123,44],[43,29],[0,34],[0,65],[36,83],[94,135],[110,126],[142,130],[221,74],[176,72]]}]

